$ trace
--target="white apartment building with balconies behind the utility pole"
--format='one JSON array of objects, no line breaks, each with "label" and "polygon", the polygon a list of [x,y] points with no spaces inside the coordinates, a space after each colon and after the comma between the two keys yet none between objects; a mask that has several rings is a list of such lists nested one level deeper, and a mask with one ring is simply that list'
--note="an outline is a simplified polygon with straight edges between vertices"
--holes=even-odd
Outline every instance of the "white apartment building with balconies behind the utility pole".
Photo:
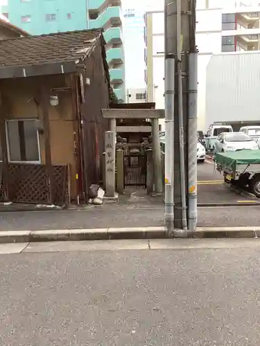
[{"label": "white apartment building with balconies behind the utility pole", "polygon": [[[260,1],[259,1],[260,2]],[[227,7],[228,3],[228,7]],[[220,6],[225,6],[220,8]],[[241,1],[198,0],[198,128],[205,128],[207,64],[212,54],[259,50],[260,5]],[[146,13],[148,102],[164,107],[164,12]]]}]

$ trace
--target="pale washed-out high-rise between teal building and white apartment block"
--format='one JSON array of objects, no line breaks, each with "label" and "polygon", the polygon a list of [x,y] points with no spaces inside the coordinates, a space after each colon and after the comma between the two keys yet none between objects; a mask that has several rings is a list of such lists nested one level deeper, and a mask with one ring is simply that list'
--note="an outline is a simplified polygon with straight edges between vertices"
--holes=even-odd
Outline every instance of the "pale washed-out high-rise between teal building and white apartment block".
[{"label": "pale washed-out high-rise between teal building and white apartment block", "polygon": [[123,19],[126,90],[144,88],[146,87],[144,10],[125,8],[123,10]]}]

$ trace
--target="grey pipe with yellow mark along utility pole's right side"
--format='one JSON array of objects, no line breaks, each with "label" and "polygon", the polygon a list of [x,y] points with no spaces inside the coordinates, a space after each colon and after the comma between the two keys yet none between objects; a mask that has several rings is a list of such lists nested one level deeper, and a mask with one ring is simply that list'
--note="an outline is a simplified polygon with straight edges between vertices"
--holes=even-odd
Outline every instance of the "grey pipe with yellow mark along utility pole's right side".
[{"label": "grey pipe with yellow mark along utility pole's right side", "polygon": [[189,55],[189,120],[188,120],[188,228],[197,227],[197,95],[198,53]]}]

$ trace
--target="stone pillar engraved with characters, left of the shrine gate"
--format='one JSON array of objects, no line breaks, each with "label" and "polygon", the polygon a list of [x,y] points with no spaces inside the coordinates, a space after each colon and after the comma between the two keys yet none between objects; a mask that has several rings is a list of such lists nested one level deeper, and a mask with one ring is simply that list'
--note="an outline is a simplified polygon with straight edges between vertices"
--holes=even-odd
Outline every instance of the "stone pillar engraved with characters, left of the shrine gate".
[{"label": "stone pillar engraved with characters, left of the shrine gate", "polygon": [[115,134],[112,131],[105,132],[105,189],[106,197],[114,197],[115,194]]}]

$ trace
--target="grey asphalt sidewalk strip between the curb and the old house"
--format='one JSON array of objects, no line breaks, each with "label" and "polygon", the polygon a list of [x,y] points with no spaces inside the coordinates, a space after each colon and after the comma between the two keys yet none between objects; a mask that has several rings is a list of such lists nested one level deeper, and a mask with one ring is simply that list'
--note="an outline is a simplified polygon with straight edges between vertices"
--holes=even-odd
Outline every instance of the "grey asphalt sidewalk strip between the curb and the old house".
[{"label": "grey asphalt sidewalk strip between the curb and the old house", "polygon": [[[260,206],[198,208],[198,226],[259,226]],[[0,213],[0,231],[163,226],[164,208],[125,208]]]}]

